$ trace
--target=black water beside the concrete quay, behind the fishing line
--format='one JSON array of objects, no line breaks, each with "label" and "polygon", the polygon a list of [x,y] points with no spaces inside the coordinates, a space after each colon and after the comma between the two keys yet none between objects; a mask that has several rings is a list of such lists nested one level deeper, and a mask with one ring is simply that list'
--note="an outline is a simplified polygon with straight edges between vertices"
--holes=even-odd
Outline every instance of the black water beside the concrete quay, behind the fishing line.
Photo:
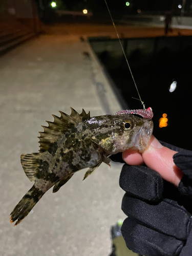
[{"label": "black water beside the concrete quay, behind the fishing line", "polygon": [[[110,42],[113,42],[110,44]],[[116,40],[106,40],[93,49],[112,77],[115,87],[130,109],[140,109],[133,79]],[[98,50],[99,49],[99,50]],[[154,135],[162,141],[192,150],[192,37],[124,39],[124,49],[130,61],[139,93],[154,112]],[[169,92],[170,84],[177,88]],[[159,119],[166,113],[168,125],[159,127]]]}]

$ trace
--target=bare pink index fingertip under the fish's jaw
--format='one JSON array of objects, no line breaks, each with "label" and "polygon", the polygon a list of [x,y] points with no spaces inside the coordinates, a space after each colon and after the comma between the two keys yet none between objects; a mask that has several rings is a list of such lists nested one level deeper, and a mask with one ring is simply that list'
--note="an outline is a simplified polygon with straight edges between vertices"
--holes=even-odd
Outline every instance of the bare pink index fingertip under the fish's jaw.
[{"label": "bare pink index fingertip under the fish's jaw", "polygon": [[122,158],[129,165],[142,165],[144,163],[141,153],[131,149],[124,151]]}]

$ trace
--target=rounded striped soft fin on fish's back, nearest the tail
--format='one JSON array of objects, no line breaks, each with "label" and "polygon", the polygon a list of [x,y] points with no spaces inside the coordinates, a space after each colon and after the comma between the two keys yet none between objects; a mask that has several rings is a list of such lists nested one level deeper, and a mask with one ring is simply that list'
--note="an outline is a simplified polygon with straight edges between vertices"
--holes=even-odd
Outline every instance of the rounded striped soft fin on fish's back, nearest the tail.
[{"label": "rounded striped soft fin on fish's back, nearest the tail", "polygon": [[29,180],[35,181],[35,174],[38,172],[38,167],[40,165],[39,153],[22,154],[20,156],[20,162],[22,163],[24,172]]}]

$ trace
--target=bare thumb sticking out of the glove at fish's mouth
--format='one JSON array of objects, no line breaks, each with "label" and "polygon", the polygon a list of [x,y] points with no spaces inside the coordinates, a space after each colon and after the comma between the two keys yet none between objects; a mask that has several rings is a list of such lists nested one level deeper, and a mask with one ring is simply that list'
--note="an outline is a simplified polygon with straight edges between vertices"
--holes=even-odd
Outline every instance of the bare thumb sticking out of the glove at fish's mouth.
[{"label": "bare thumb sticking out of the glove at fish's mouth", "polygon": [[156,170],[164,180],[179,185],[183,173],[175,165],[173,155],[177,152],[161,145],[161,143],[152,136],[150,146],[142,153],[144,163],[151,169]]}]

